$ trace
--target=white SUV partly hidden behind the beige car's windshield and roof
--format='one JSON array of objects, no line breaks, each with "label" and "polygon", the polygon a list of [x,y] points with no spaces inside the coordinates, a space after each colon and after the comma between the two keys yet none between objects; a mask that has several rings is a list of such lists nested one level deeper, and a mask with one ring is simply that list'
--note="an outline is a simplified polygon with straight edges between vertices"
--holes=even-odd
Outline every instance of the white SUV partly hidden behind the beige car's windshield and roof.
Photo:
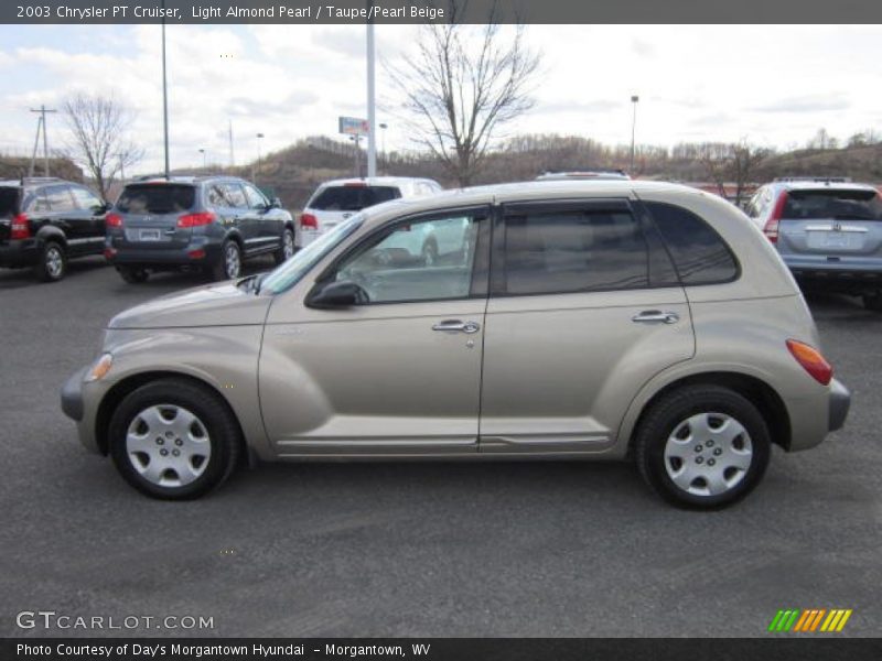
[{"label": "white SUV partly hidden behind the beige car's windshield and roof", "polygon": [[298,247],[308,246],[362,209],[402,197],[426,197],[441,189],[435,181],[402,176],[325,182],[315,189],[300,215]]}]

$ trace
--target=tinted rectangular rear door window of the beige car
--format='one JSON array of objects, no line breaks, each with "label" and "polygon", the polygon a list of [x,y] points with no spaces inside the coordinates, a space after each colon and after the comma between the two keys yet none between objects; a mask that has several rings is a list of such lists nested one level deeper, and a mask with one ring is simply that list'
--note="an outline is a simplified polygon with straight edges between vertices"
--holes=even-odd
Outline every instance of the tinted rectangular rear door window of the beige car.
[{"label": "tinted rectangular rear door window of the beige car", "polygon": [[628,210],[513,212],[505,227],[509,295],[649,286],[648,247]]}]

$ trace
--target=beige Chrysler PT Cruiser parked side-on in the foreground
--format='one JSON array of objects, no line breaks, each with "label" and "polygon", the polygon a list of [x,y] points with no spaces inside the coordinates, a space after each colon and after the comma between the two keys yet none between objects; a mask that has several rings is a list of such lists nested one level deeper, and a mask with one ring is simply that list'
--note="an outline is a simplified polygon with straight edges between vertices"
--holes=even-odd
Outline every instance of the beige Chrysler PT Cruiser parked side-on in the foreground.
[{"label": "beige Chrysler PT Cruiser parked side-on in the foreground", "polygon": [[123,312],[62,407],[160,498],[246,459],[632,458],[663,497],[710,508],[756,486],[773,443],[845,422],[817,347],[730,204],[536,182],[387,203],[267,275]]}]

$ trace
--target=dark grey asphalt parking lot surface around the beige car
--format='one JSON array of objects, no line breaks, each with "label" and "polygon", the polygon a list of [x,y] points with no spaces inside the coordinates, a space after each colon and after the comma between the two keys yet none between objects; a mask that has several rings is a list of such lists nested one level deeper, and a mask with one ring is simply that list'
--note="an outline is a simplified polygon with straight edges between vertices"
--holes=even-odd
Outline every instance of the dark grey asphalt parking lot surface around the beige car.
[{"label": "dark grey asphalt parking lot surface around the beige car", "polygon": [[271,465],[159,502],[85,452],[58,388],[110,316],[196,283],[128,285],[97,258],[57,284],[0,271],[0,635],[95,633],[15,626],[39,609],[214,618],[125,635],[560,637],[766,636],[779,608],[851,608],[841,635],[882,632],[882,315],[856,300],[809,299],[846,429],[776,449],[729,510],[582,463]]}]

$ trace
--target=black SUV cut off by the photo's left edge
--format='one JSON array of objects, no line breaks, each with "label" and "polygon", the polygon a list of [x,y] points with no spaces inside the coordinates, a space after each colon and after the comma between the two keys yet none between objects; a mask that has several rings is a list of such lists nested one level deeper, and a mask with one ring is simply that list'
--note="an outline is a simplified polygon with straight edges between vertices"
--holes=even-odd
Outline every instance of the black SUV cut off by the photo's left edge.
[{"label": "black SUV cut off by the photo's left edge", "polygon": [[109,208],[88,187],[55,177],[0,182],[0,267],[32,267],[44,282],[67,273],[67,261],[101,254]]}]

